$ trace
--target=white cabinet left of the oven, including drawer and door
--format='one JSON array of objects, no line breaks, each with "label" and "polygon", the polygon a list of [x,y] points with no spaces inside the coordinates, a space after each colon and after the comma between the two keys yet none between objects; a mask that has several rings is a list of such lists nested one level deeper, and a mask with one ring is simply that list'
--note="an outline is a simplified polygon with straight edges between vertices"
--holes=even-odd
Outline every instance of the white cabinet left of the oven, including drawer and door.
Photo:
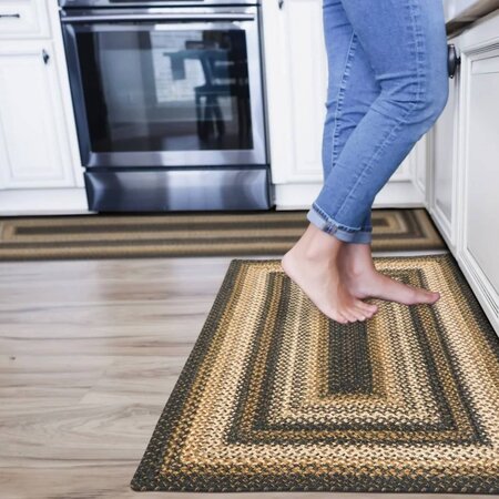
[{"label": "white cabinet left of the oven, including drawer and door", "polygon": [[88,212],[58,0],[0,14],[0,214]]}]

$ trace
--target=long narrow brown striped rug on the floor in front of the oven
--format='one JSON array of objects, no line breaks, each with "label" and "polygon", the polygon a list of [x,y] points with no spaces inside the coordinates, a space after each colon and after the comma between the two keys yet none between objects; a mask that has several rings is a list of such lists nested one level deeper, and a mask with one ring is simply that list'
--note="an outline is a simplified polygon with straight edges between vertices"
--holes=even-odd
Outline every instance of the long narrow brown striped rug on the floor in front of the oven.
[{"label": "long narrow brown striped rug on the floor in front of the oven", "polygon": [[[0,217],[0,262],[63,258],[283,255],[306,211]],[[374,251],[445,249],[427,212],[374,210]]]}]

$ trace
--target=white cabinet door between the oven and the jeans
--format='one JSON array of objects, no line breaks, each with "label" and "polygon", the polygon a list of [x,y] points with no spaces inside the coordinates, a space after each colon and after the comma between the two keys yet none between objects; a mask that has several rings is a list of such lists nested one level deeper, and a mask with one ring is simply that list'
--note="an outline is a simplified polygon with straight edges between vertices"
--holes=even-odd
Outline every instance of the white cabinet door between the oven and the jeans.
[{"label": "white cabinet door between the oven and the jeans", "polygon": [[319,183],[327,89],[322,0],[278,6],[262,6],[273,182]]}]

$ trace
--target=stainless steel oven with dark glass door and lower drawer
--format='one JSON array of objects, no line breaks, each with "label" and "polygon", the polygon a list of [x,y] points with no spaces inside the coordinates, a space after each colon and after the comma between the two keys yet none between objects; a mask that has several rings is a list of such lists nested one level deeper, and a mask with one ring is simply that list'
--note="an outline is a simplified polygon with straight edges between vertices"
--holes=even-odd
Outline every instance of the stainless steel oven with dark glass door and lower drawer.
[{"label": "stainless steel oven with dark glass door and lower drawer", "polygon": [[271,206],[257,1],[60,6],[91,210]]}]

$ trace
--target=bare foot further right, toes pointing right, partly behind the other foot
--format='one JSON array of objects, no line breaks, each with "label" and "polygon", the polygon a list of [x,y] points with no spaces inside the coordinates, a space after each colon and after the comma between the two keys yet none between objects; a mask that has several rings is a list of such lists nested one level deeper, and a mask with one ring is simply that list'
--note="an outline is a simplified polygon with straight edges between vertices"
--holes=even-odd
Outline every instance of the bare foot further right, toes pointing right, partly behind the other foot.
[{"label": "bare foot further right, toes pointing right, partly behind the other foot", "polygon": [[338,268],[346,288],[357,298],[375,297],[404,305],[432,304],[440,298],[437,292],[409,286],[376,271],[369,244],[342,247]]}]

